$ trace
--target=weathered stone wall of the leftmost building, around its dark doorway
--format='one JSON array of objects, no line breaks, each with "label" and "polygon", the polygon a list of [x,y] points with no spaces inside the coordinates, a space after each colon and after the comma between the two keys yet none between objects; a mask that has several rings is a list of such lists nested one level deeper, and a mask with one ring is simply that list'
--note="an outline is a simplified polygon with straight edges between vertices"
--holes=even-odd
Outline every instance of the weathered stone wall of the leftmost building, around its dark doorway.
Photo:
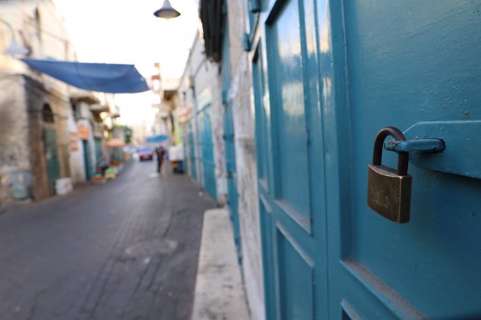
[{"label": "weathered stone wall of the leftmost building, around its dark doorway", "polygon": [[[1,1],[0,19],[6,22],[0,26],[0,50],[8,47],[13,36],[10,25],[17,42],[30,49],[29,57],[75,60],[63,18],[52,0]],[[1,185],[6,184],[0,191],[0,198],[12,198],[10,178],[18,170],[26,170],[31,175],[31,195],[41,200],[49,195],[43,144],[45,104],[49,104],[54,113],[60,175],[70,177],[72,111],[68,86],[29,70],[22,61],[6,55],[0,55],[0,85],[8,88],[3,90],[0,99],[1,118],[3,122],[11,120],[8,125],[0,126],[0,158],[4,159],[0,159]]]}]

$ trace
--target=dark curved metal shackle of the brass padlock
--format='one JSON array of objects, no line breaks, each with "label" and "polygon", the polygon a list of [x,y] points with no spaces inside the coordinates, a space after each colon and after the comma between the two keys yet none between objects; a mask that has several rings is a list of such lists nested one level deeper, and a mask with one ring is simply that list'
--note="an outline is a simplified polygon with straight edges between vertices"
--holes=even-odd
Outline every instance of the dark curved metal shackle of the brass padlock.
[{"label": "dark curved metal shackle of the brass padlock", "polygon": [[[401,130],[396,127],[384,127],[381,129],[374,141],[374,152],[372,155],[372,164],[374,166],[381,166],[381,161],[383,159],[383,145],[384,140],[387,136],[392,136],[396,141],[405,141],[406,137]],[[407,175],[408,174],[408,162],[409,162],[409,152],[397,152],[397,175]]]}]

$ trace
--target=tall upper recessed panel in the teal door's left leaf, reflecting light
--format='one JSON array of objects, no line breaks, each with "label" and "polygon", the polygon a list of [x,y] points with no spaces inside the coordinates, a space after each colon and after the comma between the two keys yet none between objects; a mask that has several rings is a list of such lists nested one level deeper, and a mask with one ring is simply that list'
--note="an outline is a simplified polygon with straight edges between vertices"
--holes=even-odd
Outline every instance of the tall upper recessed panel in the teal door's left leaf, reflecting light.
[{"label": "tall upper recessed panel in the teal door's left leaf, reflecting light", "polygon": [[299,4],[280,4],[268,24],[268,63],[276,145],[275,196],[289,214],[310,226],[307,127],[301,55]]}]

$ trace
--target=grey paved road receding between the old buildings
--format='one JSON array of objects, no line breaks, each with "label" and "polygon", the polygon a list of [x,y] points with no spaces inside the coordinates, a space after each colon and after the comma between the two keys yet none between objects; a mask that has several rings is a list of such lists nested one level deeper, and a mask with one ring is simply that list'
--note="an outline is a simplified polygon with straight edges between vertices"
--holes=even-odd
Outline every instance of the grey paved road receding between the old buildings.
[{"label": "grey paved road receding between the old buildings", "polygon": [[189,319],[213,202],[154,170],[2,212],[0,319]]}]

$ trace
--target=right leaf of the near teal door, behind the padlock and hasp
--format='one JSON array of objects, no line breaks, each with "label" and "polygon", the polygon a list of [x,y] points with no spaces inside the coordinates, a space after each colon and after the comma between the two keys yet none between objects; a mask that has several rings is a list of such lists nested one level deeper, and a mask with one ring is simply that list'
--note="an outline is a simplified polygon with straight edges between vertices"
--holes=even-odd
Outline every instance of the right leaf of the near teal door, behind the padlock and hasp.
[{"label": "right leaf of the near teal door, behind the padlock and hasp", "polygon": [[[372,0],[344,2],[330,13],[330,21],[344,22],[342,28],[332,22],[332,39],[341,46],[335,37],[344,33],[345,62],[341,47],[326,54],[339,61],[334,72],[346,70],[337,84],[349,83],[349,109],[336,102],[335,118],[324,110],[326,121],[338,126],[337,147],[349,148],[349,160],[337,159],[331,167],[339,170],[338,192],[347,193],[346,203],[330,215],[338,226],[328,238],[330,252],[337,252],[329,257],[331,310],[349,301],[365,317],[385,310],[402,319],[481,317],[480,180],[411,164],[409,223],[387,221],[366,205],[367,164],[379,129],[481,118],[481,64],[474,54],[481,49],[479,6]],[[321,25],[320,33],[322,28],[329,26]],[[395,167],[396,161],[384,152],[384,165]],[[349,170],[340,171],[339,163]],[[374,301],[365,305],[365,295]]]}]

